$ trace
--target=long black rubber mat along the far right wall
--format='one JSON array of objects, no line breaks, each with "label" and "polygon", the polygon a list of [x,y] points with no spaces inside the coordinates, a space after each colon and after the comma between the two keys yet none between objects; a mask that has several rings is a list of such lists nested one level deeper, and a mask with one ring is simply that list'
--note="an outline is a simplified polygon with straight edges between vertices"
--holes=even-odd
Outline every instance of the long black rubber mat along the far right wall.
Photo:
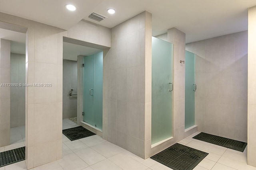
[{"label": "long black rubber mat along the far right wall", "polygon": [[224,137],[219,137],[216,135],[210,135],[208,133],[199,133],[198,135],[193,137],[194,139],[200,140],[200,141],[204,141],[204,142],[208,142],[208,143],[212,143],[215,145],[219,145],[222,147],[226,147],[229,149],[233,149],[233,150],[238,150],[240,152],[244,152],[244,149],[246,148],[247,143],[245,142],[241,142],[241,141],[236,141],[233,139],[228,139],[228,138],[224,138]]}]

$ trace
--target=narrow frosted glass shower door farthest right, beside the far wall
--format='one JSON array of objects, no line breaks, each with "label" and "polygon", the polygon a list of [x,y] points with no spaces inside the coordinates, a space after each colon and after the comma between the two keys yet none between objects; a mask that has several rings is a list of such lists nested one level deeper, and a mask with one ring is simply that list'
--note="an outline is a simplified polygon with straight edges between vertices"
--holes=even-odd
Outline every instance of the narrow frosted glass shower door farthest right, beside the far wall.
[{"label": "narrow frosted glass shower door farthest right, beside the far wall", "polygon": [[185,66],[185,129],[195,125],[196,55],[186,51]]}]

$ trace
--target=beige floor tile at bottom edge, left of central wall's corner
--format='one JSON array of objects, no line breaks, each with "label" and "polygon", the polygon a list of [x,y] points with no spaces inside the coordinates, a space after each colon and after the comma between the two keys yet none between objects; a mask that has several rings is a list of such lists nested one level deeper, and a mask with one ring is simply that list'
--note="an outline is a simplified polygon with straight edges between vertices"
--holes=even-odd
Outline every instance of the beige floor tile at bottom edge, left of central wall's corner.
[{"label": "beige floor tile at bottom edge, left of central wall's corner", "polygon": [[124,153],[116,154],[108,158],[114,164],[118,165],[123,170],[146,170],[148,167],[130,158]]}]

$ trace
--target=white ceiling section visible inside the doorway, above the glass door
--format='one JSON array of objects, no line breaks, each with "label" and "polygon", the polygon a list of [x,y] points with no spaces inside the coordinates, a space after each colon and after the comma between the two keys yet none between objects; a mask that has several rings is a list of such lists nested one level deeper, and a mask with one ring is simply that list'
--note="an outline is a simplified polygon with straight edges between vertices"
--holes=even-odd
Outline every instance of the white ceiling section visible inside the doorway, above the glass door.
[{"label": "white ceiling section visible inside the doorway, above the glass door", "polygon": [[66,60],[77,61],[78,55],[88,56],[100,51],[102,50],[63,42],[63,59]]}]

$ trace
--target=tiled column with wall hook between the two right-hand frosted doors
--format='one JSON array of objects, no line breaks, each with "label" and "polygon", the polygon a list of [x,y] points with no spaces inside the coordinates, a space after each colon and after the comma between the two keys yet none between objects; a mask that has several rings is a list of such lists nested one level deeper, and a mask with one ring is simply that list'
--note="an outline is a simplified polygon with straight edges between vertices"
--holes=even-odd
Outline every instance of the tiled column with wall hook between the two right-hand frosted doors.
[{"label": "tiled column with wall hook between the two right-hand frosted doors", "polygon": [[173,129],[174,140],[180,141],[185,137],[185,64],[180,60],[185,60],[186,35],[177,28],[168,29],[168,41],[174,46],[173,59]]}]

